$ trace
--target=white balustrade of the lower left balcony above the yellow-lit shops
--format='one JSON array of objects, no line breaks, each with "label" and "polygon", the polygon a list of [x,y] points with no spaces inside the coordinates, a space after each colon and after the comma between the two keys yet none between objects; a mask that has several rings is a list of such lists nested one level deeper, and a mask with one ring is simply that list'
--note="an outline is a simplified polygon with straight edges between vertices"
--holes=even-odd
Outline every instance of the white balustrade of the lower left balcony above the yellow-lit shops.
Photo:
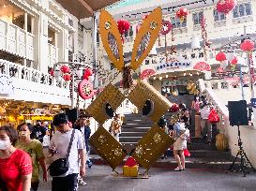
[{"label": "white balustrade of the lower left balcony above the yellow-lit shops", "polygon": [[0,74],[6,74],[10,77],[25,81],[37,82],[41,84],[53,85],[56,87],[68,89],[67,81],[61,80],[57,82],[49,74],[45,74],[38,71],[37,69],[18,65],[2,59],[0,59]]}]

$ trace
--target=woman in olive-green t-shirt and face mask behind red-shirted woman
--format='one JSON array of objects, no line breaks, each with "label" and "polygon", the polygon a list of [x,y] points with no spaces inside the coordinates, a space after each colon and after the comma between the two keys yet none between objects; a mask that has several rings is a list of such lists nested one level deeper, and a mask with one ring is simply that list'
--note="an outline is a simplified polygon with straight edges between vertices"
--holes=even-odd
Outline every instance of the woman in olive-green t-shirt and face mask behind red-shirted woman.
[{"label": "woman in olive-green t-shirt and face mask behind red-shirted woman", "polygon": [[33,126],[31,124],[23,123],[18,126],[17,130],[19,132],[20,140],[16,143],[16,148],[25,151],[32,159],[33,173],[31,188],[33,191],[37,191],[39,184],[39,165],[43,170],[43,180],[47,181],[47,168],[43,154],[43,147],[39,140],[30,139],[30,135],[33,131]]}]

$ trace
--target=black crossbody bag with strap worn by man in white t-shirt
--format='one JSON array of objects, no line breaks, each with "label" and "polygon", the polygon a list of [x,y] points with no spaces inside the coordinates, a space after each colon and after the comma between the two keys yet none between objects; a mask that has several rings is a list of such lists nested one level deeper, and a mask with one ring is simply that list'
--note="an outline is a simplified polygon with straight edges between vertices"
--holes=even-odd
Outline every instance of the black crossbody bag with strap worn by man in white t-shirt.
[{"label": "black crossbody bag with strap worn by man in white t-shirt", "polygon": [[67,157],[54,160],[53,163],[49,166],[48,170],[51,176],[61,176],[68,171],[68,167],[69,167],[68,157],[70,154],[72,142],[74,140],[74,134],[75,134],[75,129],[72,130],[72,135],[68,144]]}]

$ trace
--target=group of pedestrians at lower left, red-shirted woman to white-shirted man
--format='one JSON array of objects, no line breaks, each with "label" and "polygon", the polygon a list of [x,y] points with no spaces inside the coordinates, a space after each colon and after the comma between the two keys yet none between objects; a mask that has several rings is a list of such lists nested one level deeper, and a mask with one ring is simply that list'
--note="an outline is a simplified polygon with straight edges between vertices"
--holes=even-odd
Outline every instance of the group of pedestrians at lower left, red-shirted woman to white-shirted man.
[{"label": "group of pedestrians at lower left, red-shirted woman to white-shirted man", "polygon": [[[48,181],[49,172],[53,177],[53,191],[75,191],[79,184],[85,184],[85,165],[92,167],[87,156],[89,118],[81,115],[72,125],[65,113],[59,113],[53,117],[53,126],[55,132],[40,122],[34,126],[23,123],[16,129],[0,127],[0,191],[37,191],[40,169],[43,181]],[[49,148],[52,164],[46,164],[44,148]]]}]

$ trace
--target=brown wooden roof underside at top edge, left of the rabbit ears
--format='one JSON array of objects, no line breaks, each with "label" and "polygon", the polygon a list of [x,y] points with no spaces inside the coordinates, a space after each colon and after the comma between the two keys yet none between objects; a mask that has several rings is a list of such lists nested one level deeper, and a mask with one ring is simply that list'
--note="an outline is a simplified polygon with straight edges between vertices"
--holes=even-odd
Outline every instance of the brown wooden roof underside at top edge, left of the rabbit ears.
[{"label": "brown wooden roof underside at top edge, left of the rabbit ears", "polygon": [[78,19],[88,18],[93,12],[120,0],[56,0]]}]

